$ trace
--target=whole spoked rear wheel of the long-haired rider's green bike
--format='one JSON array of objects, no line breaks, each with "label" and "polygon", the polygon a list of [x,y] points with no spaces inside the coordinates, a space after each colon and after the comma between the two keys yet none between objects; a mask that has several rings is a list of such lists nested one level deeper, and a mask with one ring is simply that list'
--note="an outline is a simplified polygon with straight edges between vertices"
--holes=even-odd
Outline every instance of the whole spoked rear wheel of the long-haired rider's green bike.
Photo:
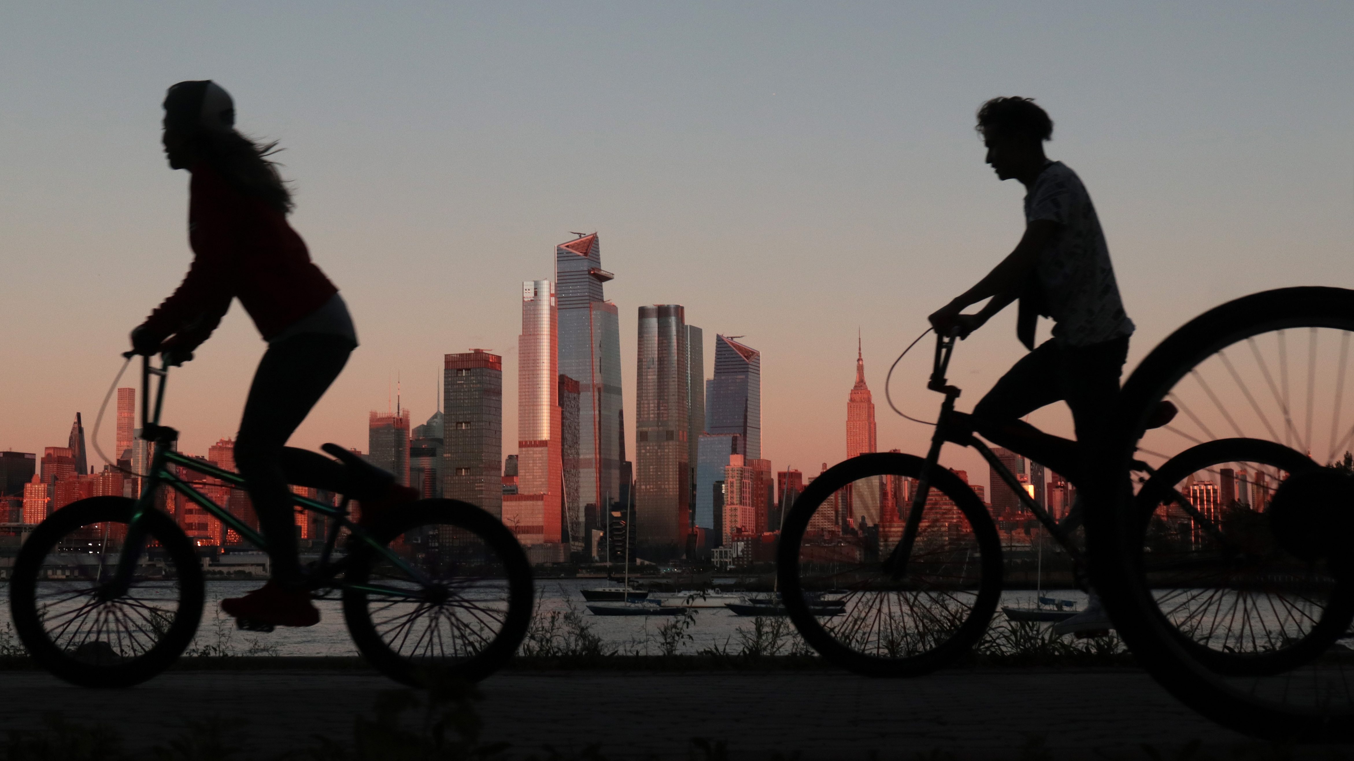
[{"label": "whole spoked rear wheel of the long-haired rider's green bike", "polygon": [[414,687],[481,680],[521,645],[531,624],[531,565],[494,516],[456,500],[421,500],[353,550],[344,619],[353,643],[386,676]]}]

